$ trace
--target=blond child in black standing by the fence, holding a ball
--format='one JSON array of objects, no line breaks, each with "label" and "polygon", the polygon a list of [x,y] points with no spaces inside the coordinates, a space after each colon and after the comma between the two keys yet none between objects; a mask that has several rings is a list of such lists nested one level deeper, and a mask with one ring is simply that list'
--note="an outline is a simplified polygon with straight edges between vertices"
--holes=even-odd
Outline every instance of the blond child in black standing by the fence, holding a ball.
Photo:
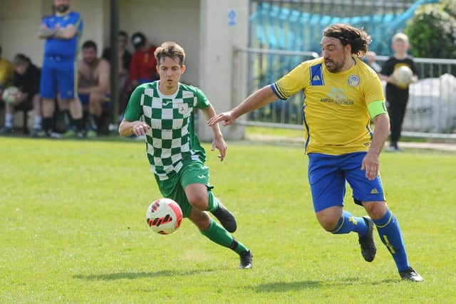
[{"label": "blond child in black standing by the fence, holding a ball", "polygon": [[388,114],[390,115],[390,145],[386,150],[390,152],[401,151],[398,147],[398,141],[408,102],[408,86],[405,88],[398,86],[393,78],[393,73],[395,69],[406,65],[413,72],[411,83],[418,81],[413,57],[407,53],[409,47],[408,36],[405,33],[396,33],[393,36],[391,46],[394,54],[388,58],[388,61],[385,61],[379,74],[380,79],[386,81],[386,101],[388,103]]}]

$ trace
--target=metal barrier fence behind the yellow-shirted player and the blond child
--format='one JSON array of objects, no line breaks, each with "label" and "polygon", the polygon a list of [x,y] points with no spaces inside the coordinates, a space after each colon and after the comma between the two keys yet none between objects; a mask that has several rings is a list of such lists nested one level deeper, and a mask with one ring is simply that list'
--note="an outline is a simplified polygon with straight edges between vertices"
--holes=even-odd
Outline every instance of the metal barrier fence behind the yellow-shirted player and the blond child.
[{"label": "metal barrier fence behind the yellow-shirted player and the blond child", "polygon": [[[233,106],[264,85],[273,83],[302,61],[318,58],[318,53],[306,51],[279,51],[259,48],[234,50],[234,73],[248,71],[246,78],[233,75]],[[380,65],[388,59],[378,56]],[[456,59],[415,58],[420,81],[410,85],[403,135],[412,137],[456,138]],[[247,65],[247,66],[245,66]],[[452,72],[453,71],[453,72]],[[453,73],[453,74],[451,74]],[[430,75],[435,77],[429,78]],[[250,112],[244,125],[302,129],[303,93],[296,93],[288,100],[276,100],[264,108]]]}]

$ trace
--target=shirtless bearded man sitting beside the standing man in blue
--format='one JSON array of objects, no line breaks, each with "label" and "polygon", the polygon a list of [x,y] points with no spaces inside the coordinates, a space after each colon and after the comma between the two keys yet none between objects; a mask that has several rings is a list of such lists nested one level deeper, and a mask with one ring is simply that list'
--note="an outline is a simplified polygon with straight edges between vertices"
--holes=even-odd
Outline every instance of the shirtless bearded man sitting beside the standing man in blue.
[{"label": "shirtless bearded man sitting beside the standing man in blue", "polygon": [[95,42],[84,42],[83,58],[78,61],[78,95],[90,115],[90,136],[102,132],[102,125],[106,125],[102,117],[108,117],[110,106],[110,66],[104,58],[97,58],[97,49]]}]

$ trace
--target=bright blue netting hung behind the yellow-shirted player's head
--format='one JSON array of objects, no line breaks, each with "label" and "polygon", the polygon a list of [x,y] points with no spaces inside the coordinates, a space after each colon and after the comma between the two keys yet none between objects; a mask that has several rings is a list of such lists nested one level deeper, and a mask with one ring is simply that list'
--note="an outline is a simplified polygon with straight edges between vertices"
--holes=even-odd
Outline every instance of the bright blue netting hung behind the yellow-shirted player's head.
[{"label": "bright blue netting hung behind the yellow-shirted player's head", "polygon": [[406,22],[423,4],[439,0],[418,0],[400,13],[373,14],[370,16],[338,17],[310,14],[284,6],[259,3],[257,11],[250,16],[252,45],[292,51],[320,52],[321,33],[333,23],[350,23],[364,28],[373,38],[371,51],[380,55],[390,54],[390,41],[395,33],[403,31]]}]

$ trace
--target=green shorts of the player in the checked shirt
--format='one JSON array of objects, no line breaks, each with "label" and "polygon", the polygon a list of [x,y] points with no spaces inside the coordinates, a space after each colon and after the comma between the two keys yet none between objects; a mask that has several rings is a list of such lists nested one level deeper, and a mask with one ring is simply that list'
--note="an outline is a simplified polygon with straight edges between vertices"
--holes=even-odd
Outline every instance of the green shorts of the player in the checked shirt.
[{"label": "green shorts of the player in the checked shirt", "polygon": [[184,217],[188,217],[190,211],[192,211],[192,205],[190,205],[187,195],[185,195],[185,187],[189,184],[204,184],[207,187],[207,191],[211,191],[214,188],[214,186],[209,184],[209,168],[196,160],[185,162],[175,177],[160,181],[155,176],[155,180],[163,197],[176,201],[180,209],[182,209]]}]

